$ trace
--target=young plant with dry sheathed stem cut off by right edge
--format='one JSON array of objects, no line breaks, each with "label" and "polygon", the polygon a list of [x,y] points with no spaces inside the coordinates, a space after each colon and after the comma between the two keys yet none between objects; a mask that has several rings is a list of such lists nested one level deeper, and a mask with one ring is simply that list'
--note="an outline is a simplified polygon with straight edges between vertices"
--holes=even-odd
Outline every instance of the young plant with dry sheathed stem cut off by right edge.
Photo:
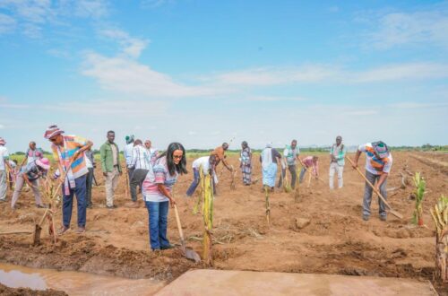
[{"label": "young plant with dry sheathed stem cut off by right edge", "polygon": [[436,232],[435,274],[443,283],[448,283],[448,197],[440,196],[430,212]]}]

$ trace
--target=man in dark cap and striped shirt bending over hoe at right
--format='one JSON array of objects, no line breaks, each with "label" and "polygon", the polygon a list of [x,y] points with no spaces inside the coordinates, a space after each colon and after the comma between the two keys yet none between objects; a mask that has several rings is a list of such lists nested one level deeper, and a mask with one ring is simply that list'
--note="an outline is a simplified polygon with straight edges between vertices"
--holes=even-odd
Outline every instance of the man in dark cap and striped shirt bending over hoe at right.
[{"label": "man in dark cap and striped shirt bending over hoe at right", "polygon": [[[366,178],[372,183],[376,190],[381,193],[384,199],[387,199],[387,177],[392,169],[392,154],[389,152],[389,148],[382,141],[361,144],[358,147],[357,154],[355,155],[353,168],[358,167],[359,156],[362,152],[366,153]],[[376,182],[376,184],[375,184]],[[363,197],[363,220],[368,221],[370,218],[370,204],[372,203],[372,191],[373,188],[368,185],[364,188]],[[380,197],[378,197],[380,220],[386,221],[387,213],[386,206]]]}]

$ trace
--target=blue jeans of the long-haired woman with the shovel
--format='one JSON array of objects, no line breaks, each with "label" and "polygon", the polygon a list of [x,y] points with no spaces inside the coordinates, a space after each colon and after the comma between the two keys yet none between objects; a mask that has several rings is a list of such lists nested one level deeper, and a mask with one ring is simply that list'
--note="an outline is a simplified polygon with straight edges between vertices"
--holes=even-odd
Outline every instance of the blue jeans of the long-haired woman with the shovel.
[{"label": "blue jeans of the long-haired woman with the shovel", "polygon": [[169,247],[167,239],[169,202],[145,202],[149,214],[152,249]]}]

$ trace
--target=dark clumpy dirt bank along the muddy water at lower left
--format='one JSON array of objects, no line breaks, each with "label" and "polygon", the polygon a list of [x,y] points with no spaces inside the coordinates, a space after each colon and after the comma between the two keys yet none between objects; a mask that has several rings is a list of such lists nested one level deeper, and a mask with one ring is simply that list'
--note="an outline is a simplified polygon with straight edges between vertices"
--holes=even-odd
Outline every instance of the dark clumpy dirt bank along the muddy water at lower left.
[{"label": "dark clumpy dirt bank along the muddy water at lower left", "polygon": [[0,260],[21,266],[162,281],[172,281],[197,266],[176,250],[166,251],[162,256],[112,245],[101,247],[94,239],[75,234],[59,239],[56,244],[46,241],[37,247],[30,246],[29,239],[4,239],[0,241]]}]

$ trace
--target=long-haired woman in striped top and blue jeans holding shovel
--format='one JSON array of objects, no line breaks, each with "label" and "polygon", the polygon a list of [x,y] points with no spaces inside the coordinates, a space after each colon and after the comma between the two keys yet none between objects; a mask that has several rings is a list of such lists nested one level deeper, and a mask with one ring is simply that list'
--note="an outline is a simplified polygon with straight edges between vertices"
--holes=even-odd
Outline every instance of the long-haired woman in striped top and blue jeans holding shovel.
[{"label": "long-haired woman in striped top and blue jeans holding shovel", "polygon": [[171,143],[157,158],[143,181],[143,199],[149,215],[150,245],[153,251],[173,248],[167,237],[168,202],[176,205],[172,190],[178,175],[186,174],[185,148]]}]

